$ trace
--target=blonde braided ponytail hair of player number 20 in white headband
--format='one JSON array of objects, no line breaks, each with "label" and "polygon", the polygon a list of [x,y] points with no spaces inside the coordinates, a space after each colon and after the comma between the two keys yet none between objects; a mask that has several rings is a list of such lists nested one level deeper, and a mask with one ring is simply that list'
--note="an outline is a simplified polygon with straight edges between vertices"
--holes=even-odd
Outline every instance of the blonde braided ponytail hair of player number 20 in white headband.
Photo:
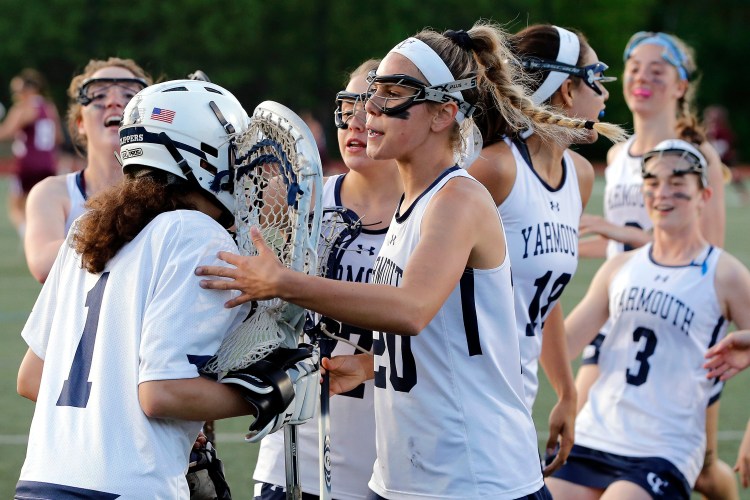
[{"label": "blonde braided ponytail hair of player number 20 in white headband", "polygon": [[[462,91],[462,94],[467,102],[478,107],[474,119],[485,143],[532,128],[541,138],[562,145],[586,139],[589,128],[613,141],[625,138],[624,131],[616,125],[570,118],[548,106],[535,105],[528,90],[532,82],[521,70],[507,45],[507,34],[499,25],[478,21],[465,32],[468,40],[456,33],[441,34],[425,29],[415,38],[429,45],[443,59],[454,78],[477,76],[477,88]],[[458,140],[458,127],[455,128],[454,138]]]}]

